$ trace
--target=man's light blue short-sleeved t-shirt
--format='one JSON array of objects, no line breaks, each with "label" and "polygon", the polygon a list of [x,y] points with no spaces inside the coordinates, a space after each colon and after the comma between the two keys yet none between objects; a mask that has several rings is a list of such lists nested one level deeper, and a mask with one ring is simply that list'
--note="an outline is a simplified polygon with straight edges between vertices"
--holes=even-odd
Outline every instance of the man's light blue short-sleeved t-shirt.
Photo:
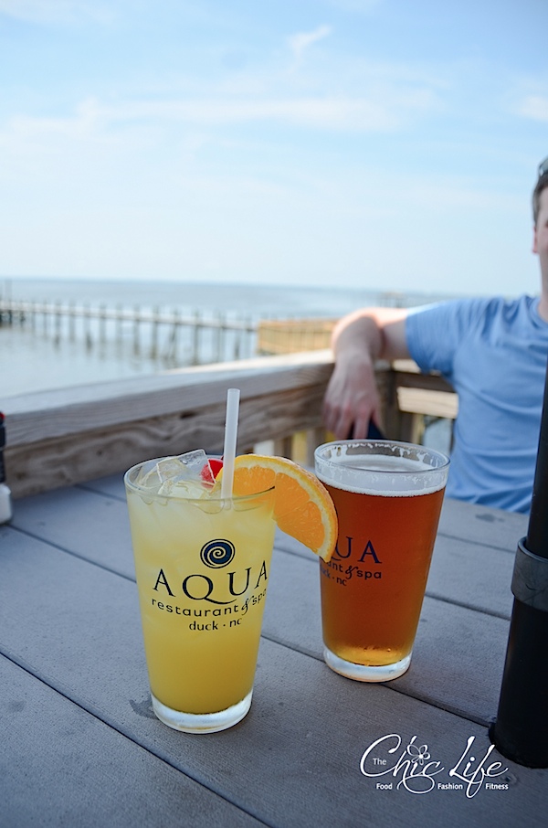
[{"label": "man's light blue short-sleeved t-shirt", "polygon": [[449,497],[531,509],[548,355],[538,304],[531,296],[459,300],[407,316],[410,355],[458,392]]}]

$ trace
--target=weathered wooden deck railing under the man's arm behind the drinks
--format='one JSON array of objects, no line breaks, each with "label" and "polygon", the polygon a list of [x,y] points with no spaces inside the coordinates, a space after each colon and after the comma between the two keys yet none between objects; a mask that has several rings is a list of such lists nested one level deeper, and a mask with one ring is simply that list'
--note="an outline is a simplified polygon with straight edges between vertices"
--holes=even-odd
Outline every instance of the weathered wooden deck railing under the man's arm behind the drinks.
[{"label": "weathered wooden deck railing under the man's arm behind the drinks", "polygon": [[[241,390],[238,452],[273,441],[274,453],[291,456],[298,444],[297,459],[310,463],[325,438],[321,402],[331,373],[331,352],[312,351],[6,398],[7,483],[21,497],[123,472],[146,458],[200,447],[221,452],[228,387]],[[413,364],[379,363],[377,379],[388,436],[414,436],[413,406],[420,413],[417,394],[425,391],[452,400],[445,412],[454,416],[447,383],[419,375]]]}]

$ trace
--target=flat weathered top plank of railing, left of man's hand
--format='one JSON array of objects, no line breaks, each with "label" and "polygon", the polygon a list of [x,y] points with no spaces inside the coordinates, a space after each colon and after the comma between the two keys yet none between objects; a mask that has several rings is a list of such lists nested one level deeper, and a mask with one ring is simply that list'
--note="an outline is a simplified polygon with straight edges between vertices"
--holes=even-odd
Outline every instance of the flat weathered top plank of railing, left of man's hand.
[{"label": "flat weathered top plank of railing, left of man's hand", "polygon": [[[6,398],[7,451],[16,446],[224,404],[237,385],[242,399],[327,381],[329,352],[261,357],[181,368],[147,377],[60,388]],[[305,395],[306,396],[306,395]]]}]

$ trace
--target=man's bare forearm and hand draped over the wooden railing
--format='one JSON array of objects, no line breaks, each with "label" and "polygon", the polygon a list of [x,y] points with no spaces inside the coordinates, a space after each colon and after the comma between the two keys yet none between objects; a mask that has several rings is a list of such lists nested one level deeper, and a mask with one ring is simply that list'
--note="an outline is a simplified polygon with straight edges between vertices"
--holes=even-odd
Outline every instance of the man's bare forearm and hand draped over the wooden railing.
[{"label": "man's bare forearm and hand draped over the wooden railing", "polygon": [[370,419],[382,425],[374,363],[409,358],[406,316],[403,308],[364,308],[335,326],[335,367],[323,401],[323,420],[337,439],[364,438]]}]

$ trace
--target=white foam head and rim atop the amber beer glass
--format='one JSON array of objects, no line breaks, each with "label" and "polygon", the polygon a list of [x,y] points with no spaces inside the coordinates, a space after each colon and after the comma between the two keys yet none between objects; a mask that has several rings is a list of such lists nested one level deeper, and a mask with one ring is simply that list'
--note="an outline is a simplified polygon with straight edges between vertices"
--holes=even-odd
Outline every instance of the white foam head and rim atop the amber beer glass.
[{"label": "white foam head and rim atop the amber beer glass", "polygon": [[390,497],[437,492],[447,482],[449,464],[439,451],[386,440],[325,443],[315,459],[322,483]]}]

